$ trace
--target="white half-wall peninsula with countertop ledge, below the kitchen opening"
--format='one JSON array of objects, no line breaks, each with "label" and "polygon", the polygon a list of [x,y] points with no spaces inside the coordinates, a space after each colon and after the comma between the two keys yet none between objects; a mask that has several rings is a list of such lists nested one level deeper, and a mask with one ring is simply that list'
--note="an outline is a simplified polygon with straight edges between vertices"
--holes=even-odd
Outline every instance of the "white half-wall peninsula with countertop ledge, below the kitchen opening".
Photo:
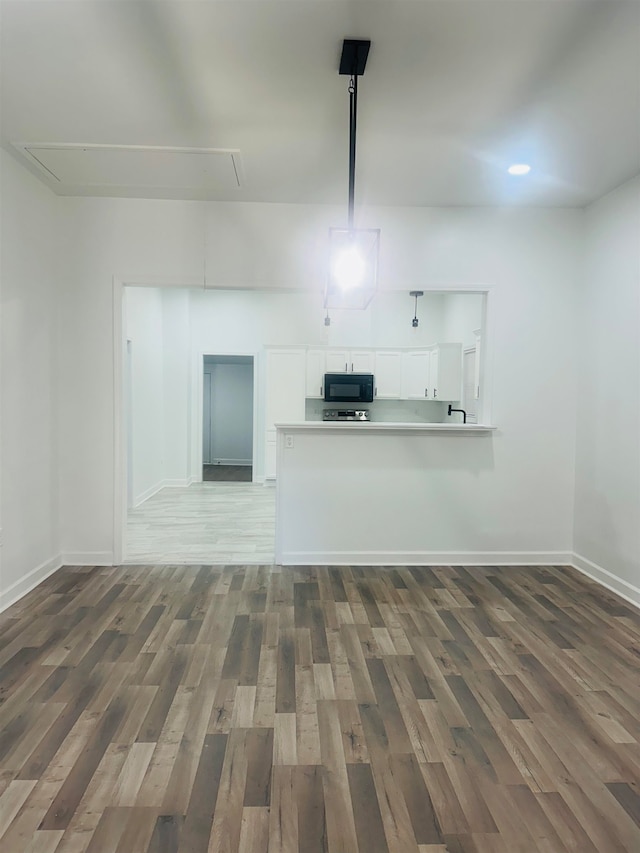
[{"label": "white half-wall peninsula with countertop ledge, below the kitchen opening", "polygon": [[478,551],[495,427],[276,424],[276,562],[452,563]]}]

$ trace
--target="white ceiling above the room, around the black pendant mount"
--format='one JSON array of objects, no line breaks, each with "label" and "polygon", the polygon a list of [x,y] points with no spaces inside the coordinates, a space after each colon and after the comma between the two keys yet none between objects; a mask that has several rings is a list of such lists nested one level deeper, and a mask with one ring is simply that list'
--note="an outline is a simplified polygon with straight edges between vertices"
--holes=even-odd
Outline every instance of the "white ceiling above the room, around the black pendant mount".
[{"label": "white ceiling above the room, around the black pendant mount", "polygon": [[[1,0],[0,12],[2,144],[61,195],[346,204],[344,38],[372,41],[357,206],[582,206],[640,171],[637,0]],[[59,173],[24,150],[45,143]],[[226,160],[210,171],[168,151],[143,168],[136,146]],[[506,174],[522,160],[527,178]]]}]

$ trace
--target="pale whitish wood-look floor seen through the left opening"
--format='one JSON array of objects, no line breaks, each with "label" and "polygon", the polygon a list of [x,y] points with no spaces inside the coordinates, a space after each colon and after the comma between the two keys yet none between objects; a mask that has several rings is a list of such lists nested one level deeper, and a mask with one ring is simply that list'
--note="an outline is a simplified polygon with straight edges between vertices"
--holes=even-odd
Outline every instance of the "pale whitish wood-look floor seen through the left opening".
[{"label": "pale whitish wood-look floor seen through the left opening", "polygon": [[161,489],[129,510],[127,563],[273,563],[273,486],[207,482]]}]

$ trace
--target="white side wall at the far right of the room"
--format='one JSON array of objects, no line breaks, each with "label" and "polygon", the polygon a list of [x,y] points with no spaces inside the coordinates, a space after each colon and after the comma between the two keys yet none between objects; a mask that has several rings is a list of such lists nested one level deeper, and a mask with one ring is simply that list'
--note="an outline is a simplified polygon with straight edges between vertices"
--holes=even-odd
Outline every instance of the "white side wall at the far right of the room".
[{"label": "white side wall at the far right of the room", "polygon": [[587,209],[584,252],[575,550],[640,603],[640,178]]}]

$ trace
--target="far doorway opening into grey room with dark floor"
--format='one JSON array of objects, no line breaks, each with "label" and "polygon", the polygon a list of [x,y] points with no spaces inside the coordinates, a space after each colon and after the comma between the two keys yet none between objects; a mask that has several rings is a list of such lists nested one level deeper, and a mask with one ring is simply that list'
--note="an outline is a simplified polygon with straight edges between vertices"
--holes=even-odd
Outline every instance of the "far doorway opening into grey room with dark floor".
[{"label": "far doorway opening into grey room with dark floor", "polygon": [[253,356],[203,356],[202,480],[253,480]]}]

